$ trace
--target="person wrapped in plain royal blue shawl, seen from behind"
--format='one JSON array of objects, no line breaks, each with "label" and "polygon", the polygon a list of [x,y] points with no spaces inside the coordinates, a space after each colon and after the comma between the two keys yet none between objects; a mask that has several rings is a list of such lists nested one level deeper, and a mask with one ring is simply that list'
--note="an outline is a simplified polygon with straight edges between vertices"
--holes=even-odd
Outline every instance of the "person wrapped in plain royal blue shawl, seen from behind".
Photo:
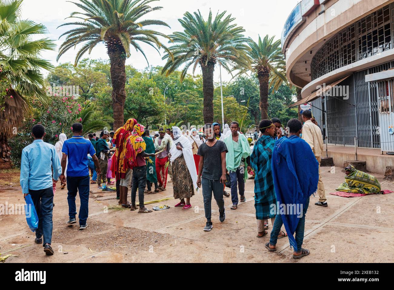
[{"label": "person wrapped in plain royal blue shawl, seen from behind", "polygon": [[[282,224],[293,247],[293,258],[309,255],[303,249],[305,214],[309,206],[309,196],[318,186],[319,163],[307,142],[299,138],[302,124],[297,119],[287,122],[289,137],[279,139],[272,153],[272,176],[277,198],[275,223],[271,238],[265,247],[276,251],[275,245]],[[296,237],[294,238],[294,232]]]}]

